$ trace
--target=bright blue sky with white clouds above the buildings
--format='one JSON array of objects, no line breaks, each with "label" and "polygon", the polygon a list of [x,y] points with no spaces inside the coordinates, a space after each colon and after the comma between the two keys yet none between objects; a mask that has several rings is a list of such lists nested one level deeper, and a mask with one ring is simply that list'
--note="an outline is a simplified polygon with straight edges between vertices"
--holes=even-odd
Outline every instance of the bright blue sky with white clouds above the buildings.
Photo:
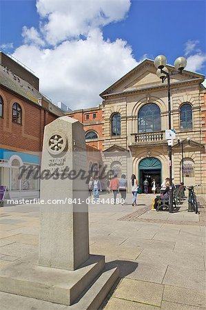
[{"label": "bright blue sky with white clouds above the buildings", "polygon": [[0,0],[0,50],[40,79],[53,103],[72,110],[158,54],[205,74],[206,0]]}]

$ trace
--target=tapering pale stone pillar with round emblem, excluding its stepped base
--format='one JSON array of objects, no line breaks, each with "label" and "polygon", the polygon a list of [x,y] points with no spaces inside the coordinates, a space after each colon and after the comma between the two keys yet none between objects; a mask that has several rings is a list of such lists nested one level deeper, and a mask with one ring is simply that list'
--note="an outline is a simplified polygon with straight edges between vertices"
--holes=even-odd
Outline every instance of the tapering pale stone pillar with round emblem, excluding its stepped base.
[{"label": "tapering pale stone pillar with round emblem, excluding its stepped base", "polygon": [[87,183],[78,176],[86,168],[83,125],[68,116],[46,125],[41,158],[41,176],[45,176],[41,200],[46,203],[40,209],[41,266],[74,270],[89,258]]}]

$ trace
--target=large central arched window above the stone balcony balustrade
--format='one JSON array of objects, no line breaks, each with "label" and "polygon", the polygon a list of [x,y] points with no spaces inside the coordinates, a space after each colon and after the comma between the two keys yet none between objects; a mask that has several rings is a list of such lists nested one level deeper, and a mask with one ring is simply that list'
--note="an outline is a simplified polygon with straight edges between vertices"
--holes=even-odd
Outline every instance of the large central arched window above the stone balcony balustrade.
[{"label": "large central arched window above the stone balcony balustrade", "polygon": [[138,132],[161,130],[161,110],[155,103],[147,103],[138,112]]}]

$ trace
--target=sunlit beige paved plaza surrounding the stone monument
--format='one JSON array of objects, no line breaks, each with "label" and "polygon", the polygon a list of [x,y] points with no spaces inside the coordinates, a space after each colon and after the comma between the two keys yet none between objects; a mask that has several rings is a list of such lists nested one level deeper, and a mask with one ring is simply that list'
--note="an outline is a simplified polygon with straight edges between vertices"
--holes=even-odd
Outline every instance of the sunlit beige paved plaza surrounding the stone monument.
[{"label": "sunlit beige paved plaza surrounding the stone monument", "polygon": [[[128,194],[124,206],[89,206],[90,253],[105,255],[107,269],[120,269],[101,309],[205,309],[205,200],[198,197],[198,216],[187,212],[187,200],[174,214],[156,212],[153,198],[141,194],[132,207]],[[39,206],[2,207],[0,238],[0,268],[37,252]],[[73,308],[3,292],[0,299],[2,310]]]}]

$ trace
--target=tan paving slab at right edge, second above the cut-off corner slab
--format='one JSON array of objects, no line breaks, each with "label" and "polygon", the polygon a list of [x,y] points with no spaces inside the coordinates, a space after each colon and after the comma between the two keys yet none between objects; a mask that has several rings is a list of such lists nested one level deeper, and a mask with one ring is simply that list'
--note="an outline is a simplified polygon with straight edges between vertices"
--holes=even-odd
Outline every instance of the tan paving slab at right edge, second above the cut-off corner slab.
[{"label": "tan paving slab at right edge, second above the cut-off corner slab", "polygon": [[205,271],[184,267],[168,266],[163,284],[188,289],[205,289]]}]

